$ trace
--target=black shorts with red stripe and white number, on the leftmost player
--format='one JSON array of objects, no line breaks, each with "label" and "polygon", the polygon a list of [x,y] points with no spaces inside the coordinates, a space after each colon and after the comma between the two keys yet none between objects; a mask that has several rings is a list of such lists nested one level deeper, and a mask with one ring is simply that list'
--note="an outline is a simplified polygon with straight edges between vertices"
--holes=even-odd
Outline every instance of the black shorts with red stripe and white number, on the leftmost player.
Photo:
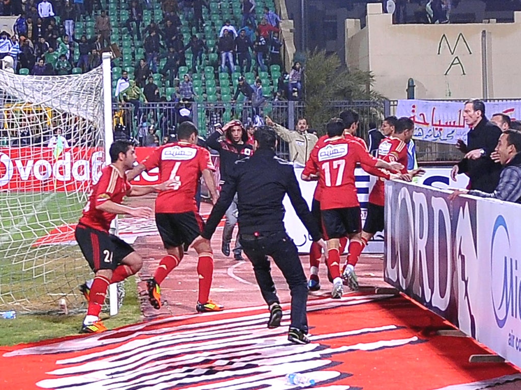
[{"label": "black shorts with red stripe and white number, on the leftmost player", "polygon": [[100,269],[114,270],[125,257],[134,252],[132,246],[119,237],[82,224],[76,226],[75,237],[94,272]]}]

